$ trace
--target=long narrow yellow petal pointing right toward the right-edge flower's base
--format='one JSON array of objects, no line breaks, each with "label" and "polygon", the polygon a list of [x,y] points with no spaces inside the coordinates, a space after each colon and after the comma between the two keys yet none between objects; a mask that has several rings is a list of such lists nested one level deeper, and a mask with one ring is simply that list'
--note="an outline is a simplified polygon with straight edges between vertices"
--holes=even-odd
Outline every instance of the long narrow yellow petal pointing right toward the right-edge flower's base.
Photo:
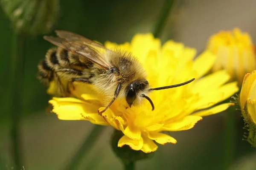
[{"label": "long narrow yellow petal pointing right toward the right-edge flower's base", "polygon": [[224,103],[224,104],[215,106],[213,108],[210,108],[210,109],[207,109],[207,110],[204,110],[204,111],[196,112],[193,115],[202,116],[202,117],[203,116],[209,116],[209,115],[212,115],[212,114],[216,114],[216,113],[225,111],[227,108],[229,108],[230,106],[233,106],[233,105],[235,105],[235,104],[234,103]]}]

